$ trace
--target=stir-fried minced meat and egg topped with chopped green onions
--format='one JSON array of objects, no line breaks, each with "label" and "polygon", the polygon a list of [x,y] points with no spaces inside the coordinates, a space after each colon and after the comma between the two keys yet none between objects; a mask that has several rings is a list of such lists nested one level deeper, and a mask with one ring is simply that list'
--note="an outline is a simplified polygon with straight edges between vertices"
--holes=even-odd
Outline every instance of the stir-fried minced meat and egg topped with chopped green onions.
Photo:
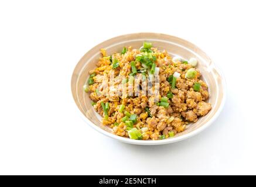
[{"label": "stir-fried minced meat and egg topped with chopped green onions", "polygon": [[83,88],[103,116],[103,125],[114,134],[163,140],[175,137],[211,110],[196,58],[172,57],[149,42],[114,54],[101,49],[101,54]]}]

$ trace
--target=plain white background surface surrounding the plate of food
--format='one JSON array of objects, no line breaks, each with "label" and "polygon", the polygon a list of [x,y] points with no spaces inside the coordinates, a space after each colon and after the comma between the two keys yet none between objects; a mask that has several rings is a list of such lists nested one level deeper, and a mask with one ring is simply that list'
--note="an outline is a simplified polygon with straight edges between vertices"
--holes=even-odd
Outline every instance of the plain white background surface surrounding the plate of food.
[{"label": "plain white background surface surrounding the plate of food", "polygon": [[[256,174],[254,1],[1,1],[0,174]],[[91,129],[71,96],[78,60],[121,34],[158,32],[203,49],[227,101],[202,133],[164,146]]]}]

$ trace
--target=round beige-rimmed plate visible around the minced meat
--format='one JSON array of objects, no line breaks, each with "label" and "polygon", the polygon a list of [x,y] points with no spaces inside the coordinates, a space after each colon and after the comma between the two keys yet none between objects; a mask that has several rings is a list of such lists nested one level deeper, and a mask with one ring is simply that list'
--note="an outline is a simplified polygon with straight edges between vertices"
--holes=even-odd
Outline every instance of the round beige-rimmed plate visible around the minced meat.
[{"label": "round beige-rimmed plate visible around the minced meat", "polygon": [[[100,119],[97,117],[97,113],[94,111],[93,106],[91,106],[91,100],[88,93],[84,92],[83,89],[83,85],[86,83],[89,76],[88,72],[96,67],[95,64],[97,63],[98,58],[101,57],[100,49],[105,49],[107,54],[121,51],[124,46],[132,46],[133,49],[139,49],[139,47],[142,46],[143,41],[152,42],[153,47],[157,47],[159,50],[165,49],[172,56],[180,56],[184,59],[189,59],[191,57],[197,58],[199,61],[197,69],[200,70],[203,80],[209,86],[210,98],[207,102],[210,102],[212,106],[210,112],[206,116],[200,117],[196,123],[188,125],[186,130],[176,134],[176,136],[172,138],[166,138],[164,140],[132,140],[127,137],[113,134],[110,127],[101,124]],[[223,75],[219,68],[212,63],[206,53],[189,41],[159,33],[125,34],[104,41],[93,47],[93,49],[88,51],[76,65],[71,78],[71,91],[74,101],[76,102],[78,109],[80,109],[84,120],[88,125],[93,127],[93,129],[116,140],[141,145],[168,144],[194,136],[208,127],[213,123],[217,116],[219,116],[226,98]]]}]

